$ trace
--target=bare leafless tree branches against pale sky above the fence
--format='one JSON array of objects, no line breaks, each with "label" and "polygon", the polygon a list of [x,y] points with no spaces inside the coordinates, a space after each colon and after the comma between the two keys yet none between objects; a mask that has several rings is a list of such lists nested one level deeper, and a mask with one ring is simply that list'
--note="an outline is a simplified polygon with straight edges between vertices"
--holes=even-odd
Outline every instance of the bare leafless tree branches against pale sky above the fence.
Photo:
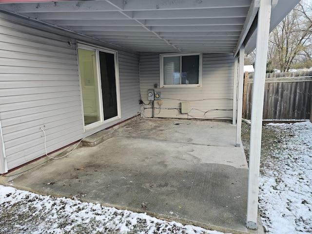
[{"label": "bare leafless tree branches against pale sky above the fence", "polygon": [[302,0],[270,34],[268,61],[286,72],[294,65],[309,65],[311,50],[312,3]]}]

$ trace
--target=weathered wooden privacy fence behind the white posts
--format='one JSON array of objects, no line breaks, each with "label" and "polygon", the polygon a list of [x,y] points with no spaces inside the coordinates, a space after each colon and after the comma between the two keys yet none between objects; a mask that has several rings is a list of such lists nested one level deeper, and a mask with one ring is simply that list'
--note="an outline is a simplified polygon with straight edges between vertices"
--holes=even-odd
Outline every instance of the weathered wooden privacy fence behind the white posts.
[{"label": "weathered wooden privacy fence behind the white posts", "polygon": [[[243,118],[251,119],[254,73],[245,73]],[[312,71],[267,73],[263,119],[312,121]]]}]

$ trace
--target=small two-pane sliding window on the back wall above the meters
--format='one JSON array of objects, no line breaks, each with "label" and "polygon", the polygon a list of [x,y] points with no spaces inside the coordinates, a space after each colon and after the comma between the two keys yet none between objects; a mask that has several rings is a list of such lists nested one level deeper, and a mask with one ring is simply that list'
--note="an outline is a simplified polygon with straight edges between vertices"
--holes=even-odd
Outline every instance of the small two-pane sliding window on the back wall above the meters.
[{"label": "small two-pane sliding window on the back wall above the meters", "polygon": [[202,54],[161,54],[160,87],[200,87]]}]

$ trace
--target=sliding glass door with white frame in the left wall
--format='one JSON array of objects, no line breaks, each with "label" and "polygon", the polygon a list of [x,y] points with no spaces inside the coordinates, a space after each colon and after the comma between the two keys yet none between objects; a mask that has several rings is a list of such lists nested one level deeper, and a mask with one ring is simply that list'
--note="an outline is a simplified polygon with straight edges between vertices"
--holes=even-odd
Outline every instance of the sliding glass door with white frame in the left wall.
[{"label": "sliding glass door with white frame in the left wall", "polygon": [[120,118],[117,52],[78,44],[85,130]]}]

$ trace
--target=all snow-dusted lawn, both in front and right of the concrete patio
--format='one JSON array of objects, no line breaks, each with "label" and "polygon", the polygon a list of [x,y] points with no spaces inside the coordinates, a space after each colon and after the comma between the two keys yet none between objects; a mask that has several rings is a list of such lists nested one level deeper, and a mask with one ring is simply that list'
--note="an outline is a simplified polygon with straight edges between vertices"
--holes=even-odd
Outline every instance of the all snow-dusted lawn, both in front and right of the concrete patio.
[{"label": "all snow-dusted lawn, both in front and right of the concrete patio", "polygon": [[[312,233],[312,123],[269,124],[276,136],[262,163],[259,208],[269,234]],[[279,133],[283,132],[282,135]],[[221,234],[146,214],[0,185],[0,234]]]}]

